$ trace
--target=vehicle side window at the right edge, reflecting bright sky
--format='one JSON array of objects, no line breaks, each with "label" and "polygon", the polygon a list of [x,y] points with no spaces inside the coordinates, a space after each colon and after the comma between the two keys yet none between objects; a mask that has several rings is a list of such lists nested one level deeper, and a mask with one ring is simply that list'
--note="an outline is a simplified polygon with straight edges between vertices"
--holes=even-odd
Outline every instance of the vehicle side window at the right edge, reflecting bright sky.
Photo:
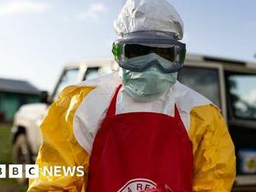
[{"label": "vehicle side window at the right edge, reflecting bright sky", "polygon": [[234,116],[256,119],[256,75],[232,74],[228,82]]}]

